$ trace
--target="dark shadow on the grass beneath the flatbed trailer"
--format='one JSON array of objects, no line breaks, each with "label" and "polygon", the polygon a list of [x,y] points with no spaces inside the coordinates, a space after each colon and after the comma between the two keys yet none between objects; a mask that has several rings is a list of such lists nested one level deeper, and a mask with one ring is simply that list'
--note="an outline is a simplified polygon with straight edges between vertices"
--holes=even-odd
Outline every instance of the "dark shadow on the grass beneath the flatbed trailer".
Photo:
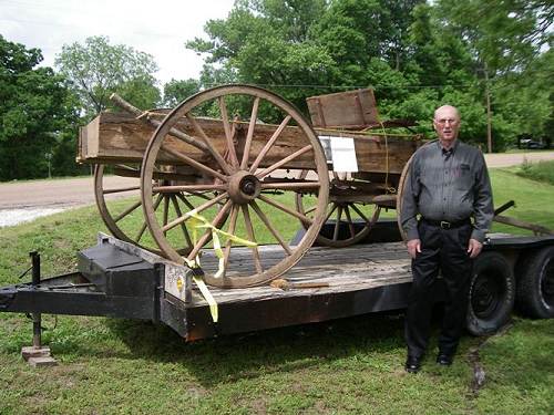
[{"label": "dark shadow on the grass beneath the flatbed trailer", "polygon": [[164,325],[107,320],[133,356],[155,363],[177,363],[203,386],[293,372],[348,359],[358,353],[403,350],[403,319],[372,314],[326,323],[271,329],[185,343]]}]

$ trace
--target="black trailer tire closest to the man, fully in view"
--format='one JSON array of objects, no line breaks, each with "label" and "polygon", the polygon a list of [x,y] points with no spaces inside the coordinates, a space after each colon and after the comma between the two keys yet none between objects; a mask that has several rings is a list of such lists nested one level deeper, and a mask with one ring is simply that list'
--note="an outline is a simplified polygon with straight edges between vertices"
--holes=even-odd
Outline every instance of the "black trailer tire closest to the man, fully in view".
[{"label": "black trailer tire closest to the man, fully in view", "polygon": [[468,308],[468,331],[491,334],[502,328],[512,312],[515,279],[512,268],[497,252],[484,252],[473,267]]}]

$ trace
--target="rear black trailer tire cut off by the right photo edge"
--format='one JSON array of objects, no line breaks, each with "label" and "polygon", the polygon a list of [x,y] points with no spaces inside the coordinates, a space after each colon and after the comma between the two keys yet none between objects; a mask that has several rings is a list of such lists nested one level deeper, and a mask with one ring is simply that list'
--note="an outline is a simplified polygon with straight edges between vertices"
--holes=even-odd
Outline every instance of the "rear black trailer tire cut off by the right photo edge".
[{"label": "rear black trailer tire cut off by the right photo edge", "polygon": [[517,305],[535,319],[554,318],[554,247],[526,258],[517,276]]}]

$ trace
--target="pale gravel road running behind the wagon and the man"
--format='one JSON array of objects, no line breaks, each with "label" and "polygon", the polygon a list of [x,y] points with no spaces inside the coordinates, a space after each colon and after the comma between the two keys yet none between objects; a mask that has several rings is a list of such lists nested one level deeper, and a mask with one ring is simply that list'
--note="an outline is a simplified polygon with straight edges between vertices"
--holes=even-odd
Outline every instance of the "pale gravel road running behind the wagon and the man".
[{"label": "pale gravel road running behind the wagon and the man", "polygon": [[[486,154],[485,159],[489,167],[507,167],[519,165],[524,159],[554,159],[554,152]],[[126,177],[105,177],[104,180],[105,188],[137,184],[137,179]],[[126,197],[130,194],[110,195],[109,198]],[[0,227],[91,204],[94,204],[92,177],[0,183]]]}]

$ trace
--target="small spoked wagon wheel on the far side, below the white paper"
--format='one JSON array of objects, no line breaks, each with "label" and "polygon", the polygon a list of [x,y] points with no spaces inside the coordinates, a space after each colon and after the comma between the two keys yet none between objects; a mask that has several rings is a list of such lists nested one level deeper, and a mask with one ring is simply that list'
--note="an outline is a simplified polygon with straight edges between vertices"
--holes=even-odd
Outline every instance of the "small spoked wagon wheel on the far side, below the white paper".
[{"label": "small spoked wagon wheel on the far side, below the white paper", "polygon": [[[299,178],[306,177],[308,170],[302,170]],[[334,188],[340,191],[340,187],[348,188],[350,179],[341,179],[334,173],[330,183],[329,205],[326,211],[326,220],[334,222],[331,228],[321,229],[317,241],[326,247],[342,248],[358,243],[363,240],[379,219],[381,207],[373,204],[357,201],[356,197],[339,199],[334,197]],[[305,193],[296,194],[296,209],[308,217],[315,211],[316,198]],[[324,222],[324,224],[325,224]],[[341,226],[342,225],[342,226]],[[345,227],[346,226],[346,227]]]}]

